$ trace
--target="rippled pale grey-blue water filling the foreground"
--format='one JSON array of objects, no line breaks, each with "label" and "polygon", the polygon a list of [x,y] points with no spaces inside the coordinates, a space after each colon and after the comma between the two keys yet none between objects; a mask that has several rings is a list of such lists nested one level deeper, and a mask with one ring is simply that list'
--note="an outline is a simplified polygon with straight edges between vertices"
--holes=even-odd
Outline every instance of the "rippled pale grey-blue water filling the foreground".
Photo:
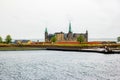
[{"label": "rippled pale grey-blue water filling the foreground", "polygon": [[120,80],[120,54],[0,51],[0,80]]}]

